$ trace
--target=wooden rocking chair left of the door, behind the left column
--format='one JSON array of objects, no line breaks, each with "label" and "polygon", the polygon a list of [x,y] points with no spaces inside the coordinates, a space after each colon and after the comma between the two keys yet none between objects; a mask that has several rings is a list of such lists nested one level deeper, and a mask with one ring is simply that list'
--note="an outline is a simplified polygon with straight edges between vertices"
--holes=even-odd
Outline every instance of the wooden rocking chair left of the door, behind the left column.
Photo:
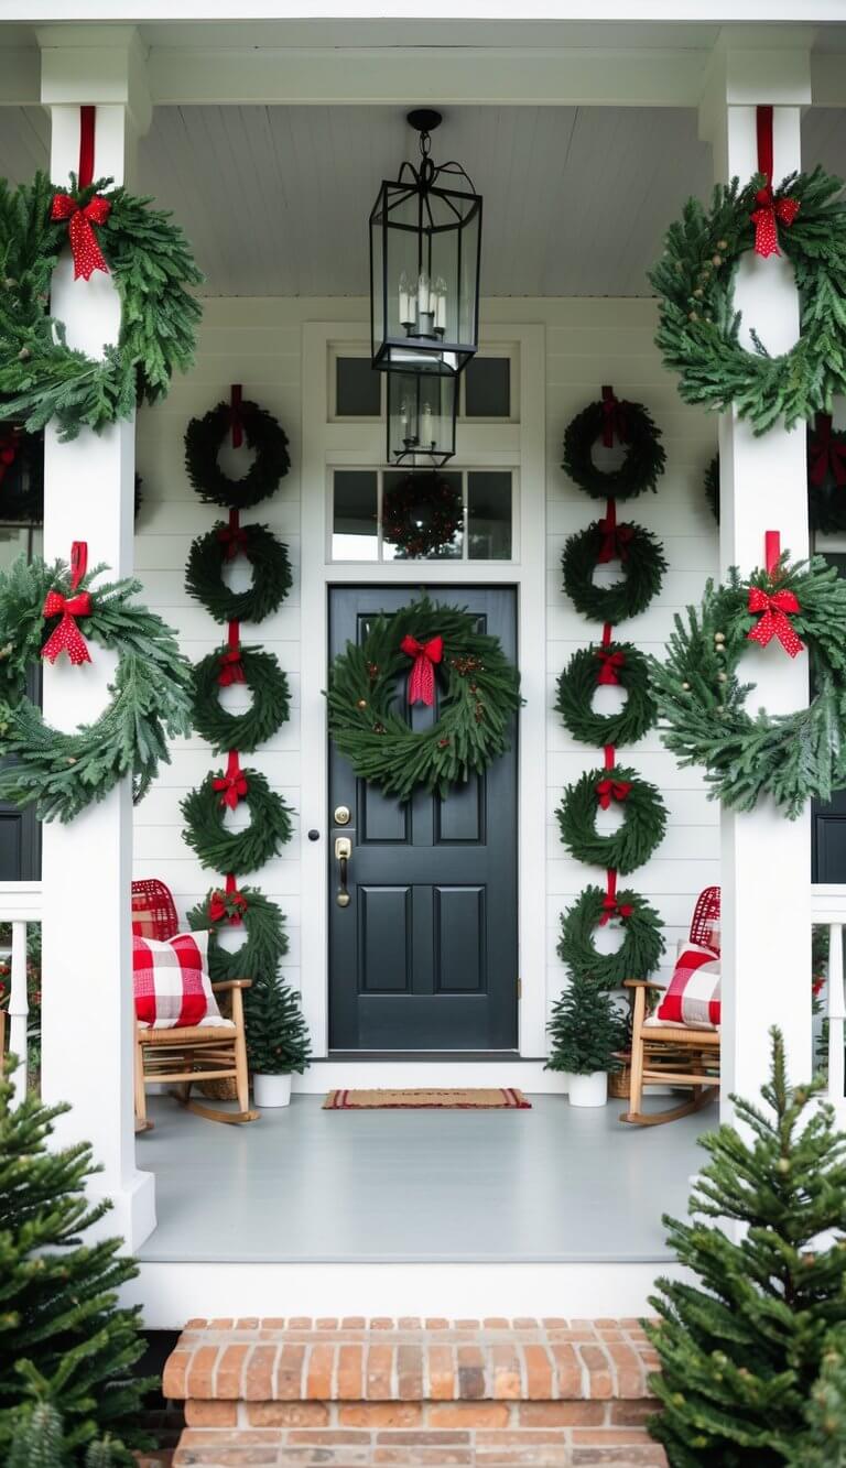
[{"label": "wooden rocking chair left of the door, behind the left column", "polygon": [[[164,882],[147,879],[132,882],[132,932],[140,938],[166,941],[179,932],[179,919],[170,890]],[[228,979],[213,984],[216,995],[228,995],[228,1026],[191,1025],[184,1029],[145,1029],[135,1026],[135,1130],[148,1132],[147,1083],[153,1080],[176,1085],[173,1095],[188,1111],[209,1122],[254,1122],[258,1111],[250,1110],[250,1073],[247,1069],[247,1039],[244,1033],[242,992],[250,979]],[[195,1080],[234,1080],[236,1111],[203,1105],[191,1100]]]}]

